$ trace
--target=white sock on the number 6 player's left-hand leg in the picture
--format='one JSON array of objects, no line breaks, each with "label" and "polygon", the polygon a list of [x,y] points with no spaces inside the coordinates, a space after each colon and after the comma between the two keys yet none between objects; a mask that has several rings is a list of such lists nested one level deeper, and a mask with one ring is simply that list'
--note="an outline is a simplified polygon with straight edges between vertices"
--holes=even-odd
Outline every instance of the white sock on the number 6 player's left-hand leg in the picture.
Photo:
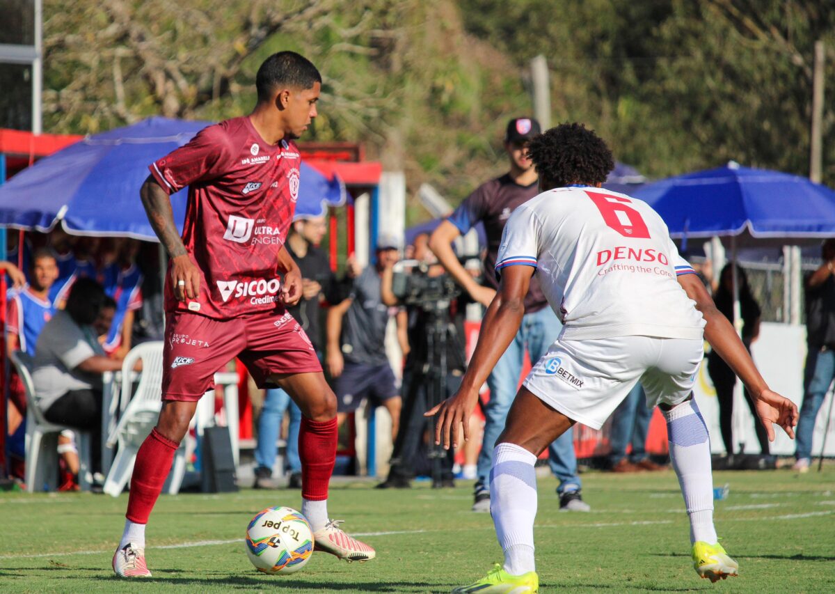
[{"label": "white sock on the number 6 player's left-hand leg in the picture", "polygon": [[493,449],[490,470],[490,514],[498,544],[504,551],[504,571],[521,576],[536,571],[534,519],[536,518],[536,456],[516,444]]}]

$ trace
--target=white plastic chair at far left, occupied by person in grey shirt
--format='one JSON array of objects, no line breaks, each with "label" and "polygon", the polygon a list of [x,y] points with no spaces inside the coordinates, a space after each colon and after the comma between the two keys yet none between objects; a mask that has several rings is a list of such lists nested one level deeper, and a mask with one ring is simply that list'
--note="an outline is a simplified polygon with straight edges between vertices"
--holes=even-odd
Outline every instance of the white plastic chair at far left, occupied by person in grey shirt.
[{"label": "white plastic chair at far left, occupied by person in grey shirt", "polygon": [[83,490],[89,490],[93,478],[90,471],[92,440],[89,432],[44,419],[35,399],[32,357],[23,351],[15,351],[12,353],[12,362],[26,392],[26,490],[33,493],[36,490],[58,488],[58,435],[64,429],[71,429],[78,439],[78,485]]}]

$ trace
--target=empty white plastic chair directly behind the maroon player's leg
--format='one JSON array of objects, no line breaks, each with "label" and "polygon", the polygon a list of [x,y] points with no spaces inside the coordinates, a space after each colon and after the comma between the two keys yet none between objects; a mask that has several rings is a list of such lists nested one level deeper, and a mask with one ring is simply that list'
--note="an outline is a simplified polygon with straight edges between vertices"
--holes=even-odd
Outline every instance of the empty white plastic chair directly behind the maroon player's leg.
[{"label": "empty white plastic chair directly behind the maroon player's leg", "polygon": [[[142,373],[134,391],[134,383],[130,381],[131,373],[137,361],[142,361]],[[130,475],[134,471],[134,462],[139,446],[154,429],[162,409],[162,371],[163,371],[163,343],[160,341],[141,343],[130,349],[122,363],[122,396],[124,406],[119,423],[107,439],[107,447],[113,448],[119,444],[119,450],[113,460],[113,465],[104,481],[104,492],[114,497],[124,490]],[[184,439],[185,442],[185,439]],[[174,465],[168,475],[165,492],[175,495],[180,491],[180,485],[185,475],[185,447],[180,444],[174,459]]]}]

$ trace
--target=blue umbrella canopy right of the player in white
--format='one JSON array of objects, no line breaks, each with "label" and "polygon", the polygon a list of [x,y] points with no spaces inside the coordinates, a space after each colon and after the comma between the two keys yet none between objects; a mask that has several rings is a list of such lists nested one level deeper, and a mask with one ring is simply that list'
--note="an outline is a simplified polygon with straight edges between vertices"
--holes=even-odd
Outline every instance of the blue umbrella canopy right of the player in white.
[{"label": "blue umbrella canopy right of the player in white", "polygon": [[633,192],[664,219],[673,237],[762,240],[835,236],[835,191],[799,175],[734,162],[678,175]]}]

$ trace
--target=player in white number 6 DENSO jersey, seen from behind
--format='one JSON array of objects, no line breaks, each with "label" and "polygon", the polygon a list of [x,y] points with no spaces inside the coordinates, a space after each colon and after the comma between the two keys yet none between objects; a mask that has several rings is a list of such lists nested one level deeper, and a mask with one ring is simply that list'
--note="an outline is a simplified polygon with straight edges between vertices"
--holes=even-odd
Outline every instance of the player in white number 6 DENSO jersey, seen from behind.
[{"label": "player in white number 6 DENSO jersey, seen from behind", "polygon": [[490,512],[504,566],[453,592],[538,591],[534,463],[574,423],[600,429],[638,381],[667,422],[694,567],[711,581],[735,576],[736,561],[713,526],[710,444],[691,393],[703,338],[751,391],[769,439],[772,424],[794,438],[797,407],[768,388],[660,216],[645,202],[600,190],[614,166],[603,140],[583,124],[561,124],[529,146],[542,193],[519,206],[504,229],[500,287],[461,388],[427,413],[438,415],[436,442],[457,446],[458,425],[468,439],[478,388],[519,329],[534,273],[564,330],[519,388],[496,443]]}]

